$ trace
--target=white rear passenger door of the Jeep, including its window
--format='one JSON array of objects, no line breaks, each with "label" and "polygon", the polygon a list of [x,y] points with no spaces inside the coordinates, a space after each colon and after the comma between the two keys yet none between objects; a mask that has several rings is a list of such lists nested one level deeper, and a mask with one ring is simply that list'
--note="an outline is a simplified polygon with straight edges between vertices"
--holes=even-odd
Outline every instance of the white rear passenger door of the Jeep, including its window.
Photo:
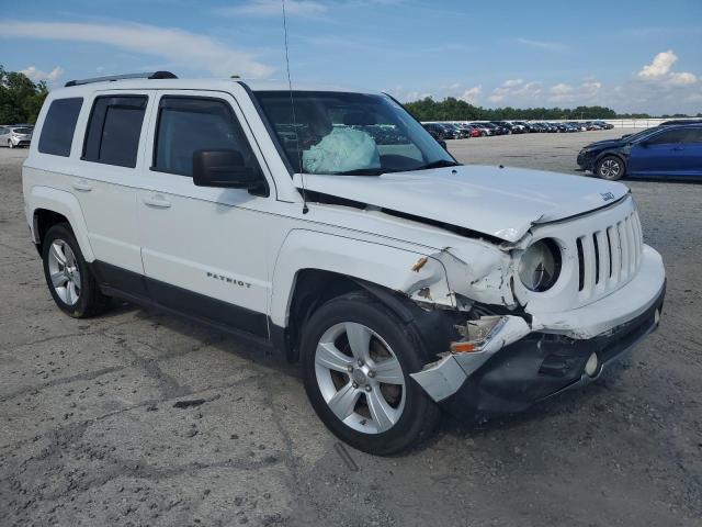
[{"label": "white rear passenger door of the Jeep, including its window", "polygon": [[136,189],[145,168],[141,137],[150,99],[149,91],[115,90],[98,92],[87,101],[90,113],[83,120],[82,154],[70,184],[83,211],[98,266],[107,264],[112,266],[107,270],[118,273],[109,282],[124,277],[124,271],[144,272]]}]

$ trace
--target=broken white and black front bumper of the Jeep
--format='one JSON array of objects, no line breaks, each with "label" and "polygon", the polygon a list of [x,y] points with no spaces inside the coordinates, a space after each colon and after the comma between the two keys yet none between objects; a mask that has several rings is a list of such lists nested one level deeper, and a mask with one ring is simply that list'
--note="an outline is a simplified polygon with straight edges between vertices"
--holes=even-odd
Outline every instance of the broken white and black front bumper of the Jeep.
[{"label": "broken white and black front bumper of the Jeep", "polygon": [[[636,278],[611,295],[567,313],[483,317],[471,349],[455,349],[411,377],[452,413],[519,412],[597,379],[613,360],[654,330],[665,296],[657,253]],[[486,318],[497,318],[488,321]],[[473,335],[471,335],[473,337]]]}]

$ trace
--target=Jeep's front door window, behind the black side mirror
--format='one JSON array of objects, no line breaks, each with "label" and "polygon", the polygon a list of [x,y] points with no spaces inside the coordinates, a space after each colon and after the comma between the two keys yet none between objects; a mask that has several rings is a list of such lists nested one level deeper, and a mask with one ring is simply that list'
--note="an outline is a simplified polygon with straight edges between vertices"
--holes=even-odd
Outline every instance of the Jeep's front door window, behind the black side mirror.
[{"label": "Jeep's front door window, behind the black side mirror", "polygon": [[244,167],[258,169],[256,156],[227,102],[162,97],[152,168],[192,177],[196,150],[236,150],[241,155]]}]

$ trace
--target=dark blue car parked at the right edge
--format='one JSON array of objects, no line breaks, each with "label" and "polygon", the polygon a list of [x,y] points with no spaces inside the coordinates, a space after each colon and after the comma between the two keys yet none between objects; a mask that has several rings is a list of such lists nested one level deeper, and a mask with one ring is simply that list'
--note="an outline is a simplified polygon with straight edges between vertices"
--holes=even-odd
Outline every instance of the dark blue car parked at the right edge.
[{"label": "dark blue car parked at the right edge", "polygon": [[580,168],[611,181],[636,178],[702,178],[702,124],[657,126],[580,150]]}]

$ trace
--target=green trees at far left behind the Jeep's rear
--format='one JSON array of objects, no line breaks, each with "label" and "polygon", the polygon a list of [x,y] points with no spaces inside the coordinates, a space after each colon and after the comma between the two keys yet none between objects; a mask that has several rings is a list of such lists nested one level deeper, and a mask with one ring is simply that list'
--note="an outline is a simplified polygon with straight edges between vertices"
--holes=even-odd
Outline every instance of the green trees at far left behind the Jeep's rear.
[{"label": "green trees at far left behind the Jeep's rear", "polygon": [[34,124],[47,93],[46,82],[0,65],[0,124]]}]

